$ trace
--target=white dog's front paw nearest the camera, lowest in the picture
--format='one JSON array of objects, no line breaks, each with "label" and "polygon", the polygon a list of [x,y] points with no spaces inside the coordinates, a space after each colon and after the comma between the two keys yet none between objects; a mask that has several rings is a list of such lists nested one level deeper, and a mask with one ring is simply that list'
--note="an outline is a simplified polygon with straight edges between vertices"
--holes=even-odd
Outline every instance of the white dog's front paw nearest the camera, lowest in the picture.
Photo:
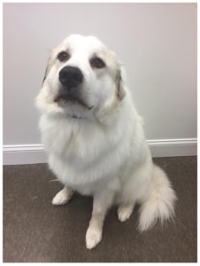
[{"label": "white dog's front paw nearest the camera, lowest in the picture", "polygon": [[86,247],[88,249],[94,248],[102,239],[102,231],[88,227],[86,233]]}]

